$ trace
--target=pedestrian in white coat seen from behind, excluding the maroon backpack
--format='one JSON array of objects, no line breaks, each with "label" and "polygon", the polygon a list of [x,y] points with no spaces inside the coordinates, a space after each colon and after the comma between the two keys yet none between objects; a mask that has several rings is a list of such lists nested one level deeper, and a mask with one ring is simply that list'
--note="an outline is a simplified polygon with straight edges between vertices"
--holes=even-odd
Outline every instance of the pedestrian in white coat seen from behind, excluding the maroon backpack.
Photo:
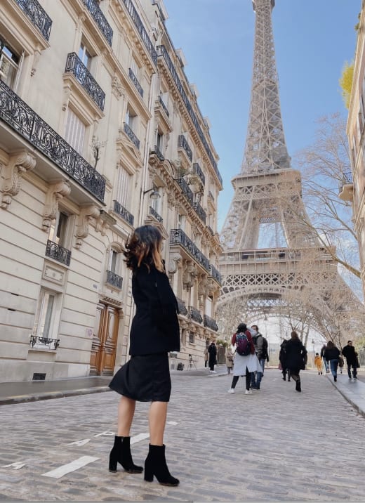
[{"label": "pedestrian in white coat seen from behind, excluding the maroon backpack", "polygon": [[232,346],[236,345],[236,338],[238,334],[245,334],[248,339],[248,344],[250,345],[250,352],[248,355],[239,355],[234,353],[234,365],[233,365],[233,379],[228,393],[234,393],[234,388],[239,380],[240,376],[246,377],[246,395],[252,395],[251,387],[251,372],[260,372],[260,363],[257,356],[255,355],[255,346],[253,346],[251,332],[247,329],[246,323],[240,323],[237,327],[237,332],[233,334]]}]

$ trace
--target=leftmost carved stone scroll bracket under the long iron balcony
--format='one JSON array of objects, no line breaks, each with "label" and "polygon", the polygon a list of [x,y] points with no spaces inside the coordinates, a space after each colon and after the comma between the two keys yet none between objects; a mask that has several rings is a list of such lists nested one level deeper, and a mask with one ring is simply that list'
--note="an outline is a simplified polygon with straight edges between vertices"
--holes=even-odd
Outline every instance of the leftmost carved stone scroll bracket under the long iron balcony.
[{"label": "leftmost carved stone scroll bracket under the long iron balcony", "polygon": [[1,208],[7,209],[13,197],[18,194],[20,190],[20,180],[22,176],[31,171],[36,165],[36,158],[34,155],[26,152],[19,152],[10,157],[8,165],[4,166],[4,175],[0,180],[1,192]]}]

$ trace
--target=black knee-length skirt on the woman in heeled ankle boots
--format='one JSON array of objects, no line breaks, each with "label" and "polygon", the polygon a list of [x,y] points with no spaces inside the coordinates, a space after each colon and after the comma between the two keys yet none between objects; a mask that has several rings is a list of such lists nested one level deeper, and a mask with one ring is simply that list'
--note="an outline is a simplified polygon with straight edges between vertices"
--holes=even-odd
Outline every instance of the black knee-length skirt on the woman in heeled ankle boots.
[{"label": "black knee-length skirt on the woman in heeled ankle boots", "polygon": [[131,356],[109,387],[138,402],[168,402],[171,395],[168,354]]}]

